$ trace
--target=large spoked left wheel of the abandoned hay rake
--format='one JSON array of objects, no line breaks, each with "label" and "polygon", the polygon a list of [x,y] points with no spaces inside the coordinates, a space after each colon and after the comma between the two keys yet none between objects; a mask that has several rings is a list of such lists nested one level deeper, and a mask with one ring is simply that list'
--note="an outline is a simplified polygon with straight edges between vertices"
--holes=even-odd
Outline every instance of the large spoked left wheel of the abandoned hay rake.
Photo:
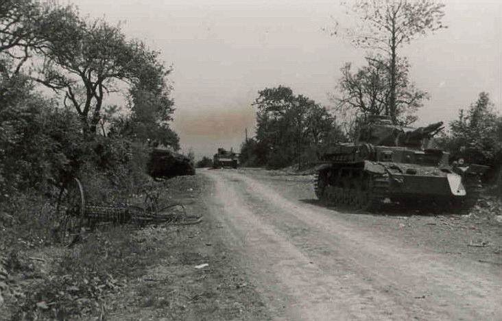
[{"label": "large spoked left wheel of the abandoned hay rake", "polygon": [[56,206],[60,221],[54,232],[57,241],[63,246],[71,246],[80,237],[86,220],[84,209],[84,189],[82,189],[80,180],[72,178],[62,187]]}]

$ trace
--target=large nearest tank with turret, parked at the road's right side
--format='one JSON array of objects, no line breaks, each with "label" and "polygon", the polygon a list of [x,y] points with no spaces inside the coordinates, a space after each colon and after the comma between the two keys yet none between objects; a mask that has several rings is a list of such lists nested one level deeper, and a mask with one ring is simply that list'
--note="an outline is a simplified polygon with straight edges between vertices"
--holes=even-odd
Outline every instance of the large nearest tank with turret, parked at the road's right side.
[{"label": "large nearest tank with turret, parked at the road's right side", "polygon": [[469,209],[479,198],[480,176],[488,167],[449,165],[449,153],[434,148],[431,140],[442,125],[403,128],[388,117],[374,117],[356,143],[334,145],[324,154],[315,195],[366,211],[379,211],[383,204]]}]

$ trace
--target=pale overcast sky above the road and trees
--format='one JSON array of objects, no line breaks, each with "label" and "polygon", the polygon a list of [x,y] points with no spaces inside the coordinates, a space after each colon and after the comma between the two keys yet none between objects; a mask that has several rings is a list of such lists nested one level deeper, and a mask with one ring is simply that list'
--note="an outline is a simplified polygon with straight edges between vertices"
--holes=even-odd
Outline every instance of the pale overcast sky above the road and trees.
[{"label": "pale overcast sky above the road and trees", "polygon": [[[322,27],[341,19],[339,0],[73,0],[82,15],[123,21],[123,32],[174,66],[172,128],[200,158],[254,134],[257,92],[283,84],[326,107],[345,62],[365,52]],[[350,2],[350,1],[349,1]],[[447,0],[448,29],[401,49],[411,80],[431,99],[417,125],[455,119],[490,93],[501,110],[502,1]],[[350,21],[347,21],[350,23]]]}]

